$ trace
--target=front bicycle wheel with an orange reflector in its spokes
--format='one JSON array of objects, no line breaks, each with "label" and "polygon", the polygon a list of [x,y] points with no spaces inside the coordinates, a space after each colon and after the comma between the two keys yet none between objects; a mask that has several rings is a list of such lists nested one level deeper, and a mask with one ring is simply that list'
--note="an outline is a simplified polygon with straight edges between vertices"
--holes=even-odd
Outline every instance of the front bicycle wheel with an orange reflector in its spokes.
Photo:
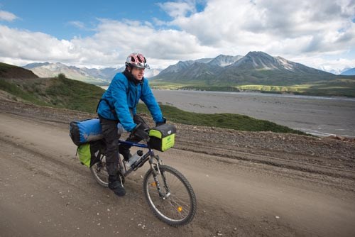
[{"label": "front bicycle wheel with an orange reflector in its spokes", "polygon": [[164,221],[170,226],[183,226],[189,224],[195,216],[197,202],[195,192],[191,184],[178,170],[168,165],[159,165],[160,174],[158,180],[162,192],[167,189],[170,191],[170,196],[165,199],[159,197],[156,183],[153,179],[153,171],[148,170],[143,179],[143,192],[148,205],[155,216]]}]

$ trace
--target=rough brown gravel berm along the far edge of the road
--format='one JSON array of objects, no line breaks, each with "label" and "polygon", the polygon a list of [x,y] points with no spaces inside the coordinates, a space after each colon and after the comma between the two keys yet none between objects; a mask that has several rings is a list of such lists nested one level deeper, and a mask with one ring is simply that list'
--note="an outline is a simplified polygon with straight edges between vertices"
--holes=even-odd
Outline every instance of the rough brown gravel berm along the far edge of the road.
[{"label": "rough brown gravel berm along the far edge of the road", "polygon": [[[27,116],[34,120],[62,123],[62,126],[68,126],[70,121],[97,117],[96,114],[1,99],[0,105],[0,111]],[[148,115],[141,116],[153,126]],[[175,126],[178,131],[176,148],[181,150],[249,160],[328,177],[344,177],[346,183],[349,180],[355,181],[355,138],[244,132],[183,124]],[[355,190],[355,187],[348,188]]]}]

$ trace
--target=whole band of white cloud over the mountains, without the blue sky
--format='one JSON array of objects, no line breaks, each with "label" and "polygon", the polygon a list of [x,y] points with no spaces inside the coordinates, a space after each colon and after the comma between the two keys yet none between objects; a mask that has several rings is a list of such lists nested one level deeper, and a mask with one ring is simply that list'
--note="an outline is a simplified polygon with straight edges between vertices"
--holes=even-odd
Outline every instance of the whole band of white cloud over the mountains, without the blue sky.
[{"label": "whole band of white cloud over the mountains, without the blue sky", "polygon": [[[135,51],[164,68],[178,60],[263,51],[316,68],[355,67],[354,56],[342,57],[355,48],[354,1],[209,0],[200,12],[197,1],[159,4],[169,22],[98,19],[85,38],[58,40],[0,25],[0,61],[115,67]],[[80,21],[71,24],[85,29]]]}]

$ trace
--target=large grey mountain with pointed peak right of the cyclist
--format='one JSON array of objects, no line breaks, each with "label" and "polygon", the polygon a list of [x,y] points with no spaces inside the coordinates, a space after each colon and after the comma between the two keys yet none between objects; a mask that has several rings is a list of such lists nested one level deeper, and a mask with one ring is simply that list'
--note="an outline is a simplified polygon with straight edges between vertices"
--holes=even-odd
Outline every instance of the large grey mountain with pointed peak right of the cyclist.
[{"label": "large grey mountain with pointed peak right of the cyclist", "polygon": [[192,83],[214,86],[231,84],[291,85],[318,79],[334,79],[336,75],[283,57],[263,52],[245,56],[219,55],[213,59],[178,62],[151,79],[156,82]]}]

